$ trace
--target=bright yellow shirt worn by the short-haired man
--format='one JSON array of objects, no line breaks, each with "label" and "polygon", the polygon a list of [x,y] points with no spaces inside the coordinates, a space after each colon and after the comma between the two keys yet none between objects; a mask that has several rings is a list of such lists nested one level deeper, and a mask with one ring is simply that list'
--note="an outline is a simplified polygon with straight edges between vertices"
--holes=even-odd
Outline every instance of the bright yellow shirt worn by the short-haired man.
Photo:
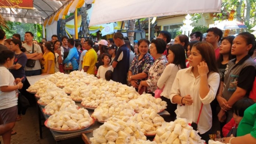
[{"label": "bright yellow shirt worn by the short-haired man", "polygon": [[83,57],[83,65],[84,66],[89,66],[87,73],[95,75],[94,67],[97,62],[97,53],[95,50],[90,49],[85,53],[85,56]]}]

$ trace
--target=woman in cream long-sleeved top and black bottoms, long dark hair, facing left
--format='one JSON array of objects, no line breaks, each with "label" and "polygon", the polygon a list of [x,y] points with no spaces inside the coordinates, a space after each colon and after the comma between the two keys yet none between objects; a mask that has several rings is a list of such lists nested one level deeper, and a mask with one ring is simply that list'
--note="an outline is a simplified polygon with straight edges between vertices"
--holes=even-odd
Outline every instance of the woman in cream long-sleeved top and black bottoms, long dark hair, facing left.
[{"label": "woman in cream long-sleeved top and black bottoms, long dark hair, facing left", "polygon": [[159,78],[157,87],[159,87],[159,89],[163,89],[163,92],[161,93],[161,99],[167,102],[167,108],[165,110],[171,114],[171,121],[173,121],[176,117],[174,111],[177,109],[177,104],[171,103],[169,95],[176,74],[180,69],[187,68],[185,48],[183,45],[175,44],[168,47],[167,59],[169,64],[166,66],[164,72]]}]

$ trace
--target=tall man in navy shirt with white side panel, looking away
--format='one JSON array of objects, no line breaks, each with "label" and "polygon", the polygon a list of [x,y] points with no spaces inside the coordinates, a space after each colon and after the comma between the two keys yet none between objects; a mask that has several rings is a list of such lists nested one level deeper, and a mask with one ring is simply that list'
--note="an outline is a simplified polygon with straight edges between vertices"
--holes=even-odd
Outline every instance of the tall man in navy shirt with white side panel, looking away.
[{"label": "tall man in navy shirt with white side panel, looking away", "polygon": [[123,40],[123,34],[117,32],[114,34],[114,42],[119,49],[112,63],[113,80],[122,84],[127,84],[127,73],[129,70],[130,51]]}]

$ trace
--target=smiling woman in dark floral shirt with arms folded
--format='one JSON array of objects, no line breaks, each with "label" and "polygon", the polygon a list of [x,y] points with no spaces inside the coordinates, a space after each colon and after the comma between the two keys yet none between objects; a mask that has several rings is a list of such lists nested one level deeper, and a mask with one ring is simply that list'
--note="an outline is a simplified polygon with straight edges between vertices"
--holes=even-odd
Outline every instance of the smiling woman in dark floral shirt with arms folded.
[{"label": "smiling woman in dark floral shirt with arms folded", "polygon": [[139,87],[141,80],[146,80],[149,68],[154,63],[153,57],[148,53],[149,40],[141,39],[138,42],[138,47],[140,54],[133,58],[128,71],[128,81],[136,89]]}]

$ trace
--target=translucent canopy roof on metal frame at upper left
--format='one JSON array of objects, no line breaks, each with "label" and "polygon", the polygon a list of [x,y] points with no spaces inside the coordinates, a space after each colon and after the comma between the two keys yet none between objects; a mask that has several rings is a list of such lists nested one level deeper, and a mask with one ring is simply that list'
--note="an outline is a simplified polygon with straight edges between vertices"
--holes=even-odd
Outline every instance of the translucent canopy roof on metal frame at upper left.
[{"label": "translucent canopy roof on metal frame at upper left", "polygon": [[69,2],[70,0],[33,0],[33,9],[1,7],[0,14],[6,21],[43,24],[44,19],[53,16]]}]

